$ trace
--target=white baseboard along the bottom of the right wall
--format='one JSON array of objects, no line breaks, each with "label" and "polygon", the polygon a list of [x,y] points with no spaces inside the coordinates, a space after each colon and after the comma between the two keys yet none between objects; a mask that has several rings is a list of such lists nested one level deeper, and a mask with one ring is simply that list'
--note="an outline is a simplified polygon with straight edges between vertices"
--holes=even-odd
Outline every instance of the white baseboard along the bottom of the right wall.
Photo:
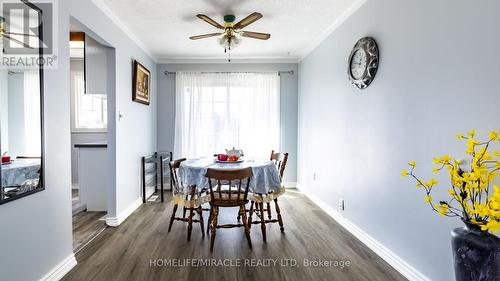
[{"label": "white baseboard along the bottom of the right wall", "polygon": [[342,216],[330,205],[325,203],[320,198],[307,192],[301,188],[300,184],[297,184],[297,188],[304,194],[307,198],[313,201],[318,207],[325,211],[330,217],[336,220],[340,225],[342,225],[347,231],[358,238],[363,244],[370,248],[375,254],[385,260],[389,265],[401,273],[410,281],[431,281],[430,278],[425,276],[423,273],[415,269],[413,266],[408,264],[405,260],[400,258],[394,252],[386,248],[379,241],[368,235],[363,229],[359,228],[357,225],[352,223],[350,220]]}]

